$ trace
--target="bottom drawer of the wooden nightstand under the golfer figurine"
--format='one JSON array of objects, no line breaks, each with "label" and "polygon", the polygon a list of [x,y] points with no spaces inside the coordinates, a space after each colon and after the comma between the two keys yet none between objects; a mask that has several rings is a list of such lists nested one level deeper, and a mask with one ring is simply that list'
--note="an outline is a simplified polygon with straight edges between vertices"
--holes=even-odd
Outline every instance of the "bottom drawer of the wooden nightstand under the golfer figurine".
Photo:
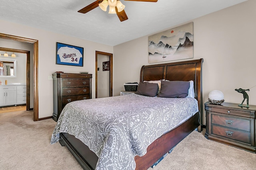
[{"label": "bottom drawer of the wooden nightstand under the golfer figurine", "polygon": [[232,139],[234,141],[251,144],[250,132],[212,125],[211,133],[226,139]]}]

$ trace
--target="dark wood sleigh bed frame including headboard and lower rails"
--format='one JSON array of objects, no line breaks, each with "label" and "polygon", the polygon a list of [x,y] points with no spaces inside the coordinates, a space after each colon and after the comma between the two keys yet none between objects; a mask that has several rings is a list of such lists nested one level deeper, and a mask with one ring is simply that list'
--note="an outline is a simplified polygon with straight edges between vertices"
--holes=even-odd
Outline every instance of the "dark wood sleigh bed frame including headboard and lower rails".
[{"label": "dark wood sleigh bed frame including headboard and lower rails", "polygon": [[[180,141],[194,131],[194,129],[198,128],[198,132],[201,132],[202,114],[200,115],[200,113],[203,112],[202,63],[203,59],[198,59],[142,66],[140,70],[140,82],[161,79],[170,81],[193,80],[199,112],[178,127],[156,139],[148,146],[147,153],[144,156],[135,156],[136,170],[147,170],[150,168],[150,166],[174,148]],[[79,139],[68,133],[60,133],[60,144],[70,150],[83,169],[95,169],[98,157]]]}]

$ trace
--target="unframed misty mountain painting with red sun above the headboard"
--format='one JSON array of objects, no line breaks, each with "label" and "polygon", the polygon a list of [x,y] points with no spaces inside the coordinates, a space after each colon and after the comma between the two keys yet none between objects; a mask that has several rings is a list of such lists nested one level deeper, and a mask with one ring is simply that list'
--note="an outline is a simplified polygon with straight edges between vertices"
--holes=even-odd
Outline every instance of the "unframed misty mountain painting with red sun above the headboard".
[{"label": "unframed misty mountain painting with red sun above the headboard", "polygon": [[193,58],[193,22],[148,37],[148,63]]}]

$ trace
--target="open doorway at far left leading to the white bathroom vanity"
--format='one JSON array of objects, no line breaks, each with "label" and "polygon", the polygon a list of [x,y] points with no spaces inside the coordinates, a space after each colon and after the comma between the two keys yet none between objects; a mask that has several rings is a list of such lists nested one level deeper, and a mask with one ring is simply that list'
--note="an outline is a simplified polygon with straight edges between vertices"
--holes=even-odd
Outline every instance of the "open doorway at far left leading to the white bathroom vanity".
[{"label": "open doorway at far left leading to the white bathroom vanity", "polygon": [[[12,44],[13,40],[5,41]],[[22,43],[23,42],[21,42],[21,44]],[[26,43],[26,47],[29,45]],[[10,52],[13,54],[15,53],[16,56],[15,58],[10,58],[10,56],[8,56],[6,59],[1,57],[3,65],[0,67],[2,72],[0,78],[2,80],[2,84],[9,86],[2,88],[1,94],[4,94],[3,96],[5,97],[0,101],[0,113],[30,110],[30,51],[0,47],[0,52],[4,53],[4,51],[8,51],[8,53]],[[5,68],[5,65],[11,66],[10,69],[13,69],[13,76],[6,75],[7,67]],[[5,82],[4,79],[6,79]],[[11,82],[9,83],[8,80],[11,80]],[[16,83],[12,83],[13,81]],[[4,89],[8,90],[4,91]]]}]

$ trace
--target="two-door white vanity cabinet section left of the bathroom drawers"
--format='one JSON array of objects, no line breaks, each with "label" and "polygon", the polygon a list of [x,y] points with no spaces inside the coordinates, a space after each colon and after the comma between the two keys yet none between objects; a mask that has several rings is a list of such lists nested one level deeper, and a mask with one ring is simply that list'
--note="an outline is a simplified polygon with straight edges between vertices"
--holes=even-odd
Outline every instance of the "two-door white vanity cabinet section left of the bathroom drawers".
[{"label": "two-door white vanity cabinet section left of the bathroom drawers", "polygon": [[16,86],[0,86],[0,106],[16,104]]}]

